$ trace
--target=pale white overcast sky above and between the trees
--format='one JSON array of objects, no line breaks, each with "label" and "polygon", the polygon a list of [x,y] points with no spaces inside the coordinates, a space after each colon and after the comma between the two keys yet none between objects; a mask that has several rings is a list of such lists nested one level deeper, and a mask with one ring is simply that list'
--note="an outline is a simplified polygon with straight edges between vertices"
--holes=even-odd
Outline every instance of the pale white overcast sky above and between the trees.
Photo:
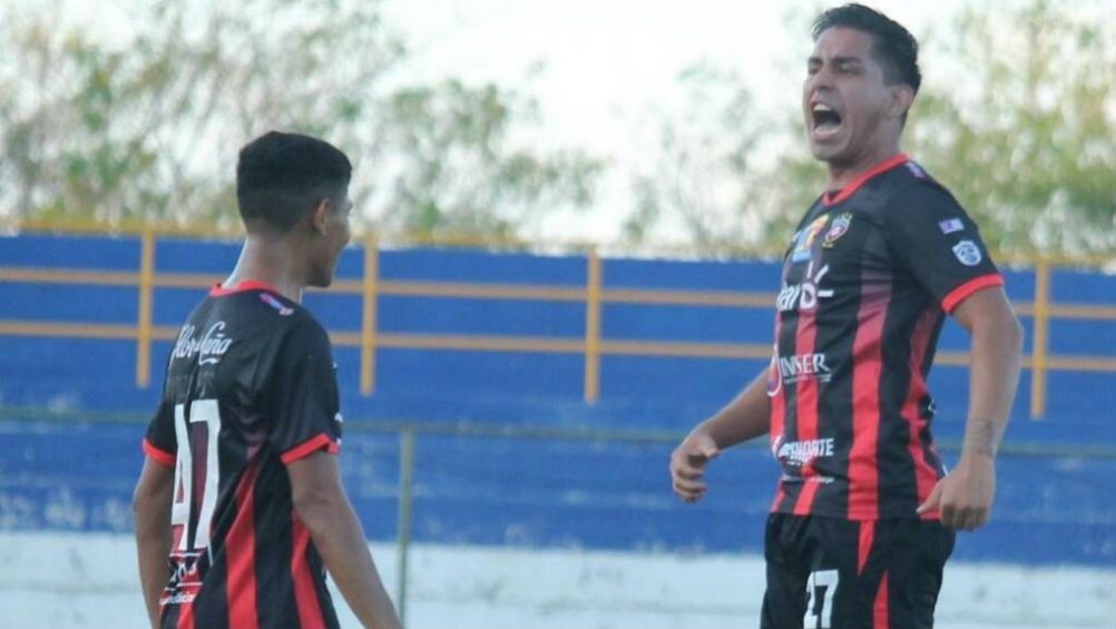
[{"label": "pale white overcast sky above and between the trees", "polygon": [[[145,0],[0,0],[62,7],[76,22],[127,29],[122,7]],[[874,0],[921,40],[944,29],[972,0]],[[1028,0],[995,0],[1008,8]],[[1095,19],[1113,19],[1116,0],[1054,0]],[[607,159],[609,176],[588,215],[558,214],[548,233],[613,241],[632,209],[629,175],[654,155],[655,130],[686,96],[677,77],[699,61],[738,71],[757,114],[797,108],[806,32],[818,8],[808,0],[384,0],[386,22],[410,55],[395,80],[445,77],[496,81],[537,99],[542,125],[531,142],[581,147]],[[1114,27],[1116,28],[1116,27]],[[953,80],[946,62],[923,58],[927,84]],[[804,143],[805,151],[805,143]]]}]

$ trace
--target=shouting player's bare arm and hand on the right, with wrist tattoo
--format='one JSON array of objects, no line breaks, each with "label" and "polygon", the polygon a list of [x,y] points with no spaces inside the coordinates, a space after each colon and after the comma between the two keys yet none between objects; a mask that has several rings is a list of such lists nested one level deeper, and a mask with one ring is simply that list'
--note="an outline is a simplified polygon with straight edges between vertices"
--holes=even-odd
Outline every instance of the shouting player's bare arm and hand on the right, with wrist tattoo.
[{"label": "shouting player's bare arm and hand on the right, with wrist tattoo", "polygon": [[972,531],[983,526],[995,495],[995,452],[1019,384],[1023,332],[1003,289],[982,290],[953,316],[972,335],[969,418],[961,459],[918,507],[941,512],[942,524]]}]

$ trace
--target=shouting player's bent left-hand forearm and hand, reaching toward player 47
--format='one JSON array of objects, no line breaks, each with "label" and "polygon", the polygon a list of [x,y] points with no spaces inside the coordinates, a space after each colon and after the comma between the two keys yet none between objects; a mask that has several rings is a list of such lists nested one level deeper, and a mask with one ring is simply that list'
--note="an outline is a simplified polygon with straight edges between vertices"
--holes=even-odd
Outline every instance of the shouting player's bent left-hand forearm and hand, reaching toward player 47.
[{"label": "shouting player's bent left-hand forearm and hand, reaching toward player 47", "polygon": [[767,371],[757,377],[724,408],[695,427],[671,454],[674,493],[686,502],[705,494],[705,466],[722,449],[767,434],[770,422]]}]

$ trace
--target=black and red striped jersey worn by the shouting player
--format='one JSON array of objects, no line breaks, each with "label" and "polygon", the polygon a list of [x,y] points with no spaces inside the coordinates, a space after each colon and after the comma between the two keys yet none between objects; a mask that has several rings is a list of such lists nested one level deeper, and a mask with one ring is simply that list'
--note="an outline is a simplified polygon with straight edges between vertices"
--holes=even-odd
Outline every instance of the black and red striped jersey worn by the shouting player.
[{"label": "black and red striped jersey worn by the shouting player", "polygon": [[939,332],[958,303],[1002,284],[977,225],[905,155],[819,197],[777,298],[772,511],[917,517],[945,473],[926,388]]}]

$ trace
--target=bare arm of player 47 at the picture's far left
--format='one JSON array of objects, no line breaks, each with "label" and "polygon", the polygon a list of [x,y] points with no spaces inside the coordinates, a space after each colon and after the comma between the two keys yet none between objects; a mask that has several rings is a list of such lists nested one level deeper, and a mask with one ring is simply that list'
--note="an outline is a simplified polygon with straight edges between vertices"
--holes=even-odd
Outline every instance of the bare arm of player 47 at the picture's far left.
[{"label": "bare arm of player 47 at the picture's far left", "polygon": [[140,583],[147,618],[158,627],[158,599],[166,587],[166,549],[171,548],[171,491],[174,468],[147,458],[136,483],[132,507],[136,521]]}]

